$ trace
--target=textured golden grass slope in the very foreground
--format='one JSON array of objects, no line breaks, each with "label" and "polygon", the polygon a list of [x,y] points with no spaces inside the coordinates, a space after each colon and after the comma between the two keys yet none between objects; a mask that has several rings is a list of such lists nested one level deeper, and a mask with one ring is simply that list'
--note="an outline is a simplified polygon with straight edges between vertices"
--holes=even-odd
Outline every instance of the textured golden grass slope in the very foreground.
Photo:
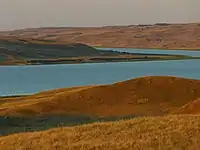
[{"label": "textured golden grass slope in the very foreground", "polygon": [[0,138],[2,150],[199,149],[199,116],[146,117]]}]

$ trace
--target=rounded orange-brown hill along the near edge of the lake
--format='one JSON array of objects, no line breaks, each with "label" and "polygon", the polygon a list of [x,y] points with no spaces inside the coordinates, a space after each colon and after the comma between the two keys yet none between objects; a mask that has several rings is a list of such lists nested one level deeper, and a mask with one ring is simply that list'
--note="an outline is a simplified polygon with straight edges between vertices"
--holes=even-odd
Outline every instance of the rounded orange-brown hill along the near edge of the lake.
[{"label": "rounded orange-brown hill along the near edge of the lake", "polygon": [[162,115],[200,97],[200,80],[141,77],[111,85],[75,87],[2,99],[0,115]]}]

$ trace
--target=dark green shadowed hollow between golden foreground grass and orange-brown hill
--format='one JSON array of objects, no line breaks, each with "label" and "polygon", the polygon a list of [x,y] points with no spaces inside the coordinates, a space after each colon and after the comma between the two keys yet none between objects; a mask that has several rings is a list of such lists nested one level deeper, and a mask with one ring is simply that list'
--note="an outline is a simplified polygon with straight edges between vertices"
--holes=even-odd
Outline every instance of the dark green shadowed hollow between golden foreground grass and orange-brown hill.
[{"label": "dark green shadowed hollow between golden foreground grass and orange-brown hill", "polygon": [[42,131],[56,127],[75,126],[94,122],[126,120],[135,116],[94,117],[84,115],[54,115],[35,117],[0,116],[0,136],[14,133]]}]

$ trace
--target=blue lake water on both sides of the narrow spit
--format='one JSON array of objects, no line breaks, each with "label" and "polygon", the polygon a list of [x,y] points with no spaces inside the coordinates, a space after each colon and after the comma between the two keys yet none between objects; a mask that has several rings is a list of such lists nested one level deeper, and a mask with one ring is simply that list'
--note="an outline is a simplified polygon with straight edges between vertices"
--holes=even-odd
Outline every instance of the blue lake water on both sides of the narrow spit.
[{"label": "blue lake water on both sides of the narrow spit", "polygon": [[[139,50],[139,52],[200,56],[198,51]],[[200,79],[200,60],[1,66],[0,95],[31,94],[61,87],[108,84],[153,75]]]}]

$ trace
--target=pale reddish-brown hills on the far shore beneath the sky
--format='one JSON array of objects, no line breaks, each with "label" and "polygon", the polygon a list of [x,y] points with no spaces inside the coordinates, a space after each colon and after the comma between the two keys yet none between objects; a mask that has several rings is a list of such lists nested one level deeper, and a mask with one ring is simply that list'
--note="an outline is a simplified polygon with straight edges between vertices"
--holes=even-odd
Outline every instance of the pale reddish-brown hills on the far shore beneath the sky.
[{"label": "pale reddish-brown hills on the far shore beneath the sky", "polygon": [[38,28],[1,32],[0,35],[111,48],[200,49],[200,24],[198,23]]}]

